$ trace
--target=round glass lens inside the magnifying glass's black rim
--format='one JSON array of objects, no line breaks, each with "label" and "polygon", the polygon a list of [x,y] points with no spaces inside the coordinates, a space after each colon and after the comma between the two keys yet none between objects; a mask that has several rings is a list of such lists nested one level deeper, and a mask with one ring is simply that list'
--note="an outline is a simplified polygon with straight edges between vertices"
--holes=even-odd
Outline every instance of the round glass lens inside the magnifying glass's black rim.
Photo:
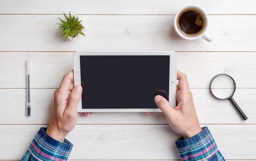
[{"label": "round glass lens inside the magnifying glass's black rim", "polygon": [[235,92],[235,82],[227,75],[218,75],[211,82],[211,92],[219,99],[230,98]]}]

